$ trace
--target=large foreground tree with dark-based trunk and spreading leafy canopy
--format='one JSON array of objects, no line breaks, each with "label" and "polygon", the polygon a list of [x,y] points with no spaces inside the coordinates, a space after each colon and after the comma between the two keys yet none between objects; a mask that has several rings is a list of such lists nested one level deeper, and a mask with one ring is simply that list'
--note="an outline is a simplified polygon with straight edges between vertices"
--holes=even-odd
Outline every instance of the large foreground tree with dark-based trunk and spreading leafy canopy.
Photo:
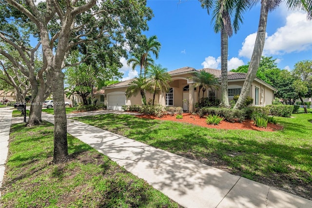
[{"label": "large foreground tree with dark-based trunk and spreading leafy canopy", "polygon": [[67,66],[66,58],[73,49],[85,55],[80,62],[89,57],[116,60],[126,56],[119,48],[127,43],[131,49],[136,44],[137,35],[148,29],[152,11],[145,0],[47,0],[38,5],[34,0],[6,1],[37,27],[55,102],[53,162],[65,161],[68,147],[62,69]]}]

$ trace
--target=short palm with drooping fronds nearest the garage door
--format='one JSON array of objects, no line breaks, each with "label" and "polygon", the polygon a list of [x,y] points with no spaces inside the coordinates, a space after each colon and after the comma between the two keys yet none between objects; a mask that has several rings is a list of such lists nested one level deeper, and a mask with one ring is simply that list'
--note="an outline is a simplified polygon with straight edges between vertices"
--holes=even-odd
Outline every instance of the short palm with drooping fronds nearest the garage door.
[{"label": "short palm with drooping fronds nearest the garage door", "polygon": [[147,86],[148,85],[144,77],[139,76],[138,78],[135,78],[126,90],[127,98],[130,98],[131,96],[137,96],[137,94],[140,92],[142,97],[142,104],[146,105],[145,90],[147,89]]}]

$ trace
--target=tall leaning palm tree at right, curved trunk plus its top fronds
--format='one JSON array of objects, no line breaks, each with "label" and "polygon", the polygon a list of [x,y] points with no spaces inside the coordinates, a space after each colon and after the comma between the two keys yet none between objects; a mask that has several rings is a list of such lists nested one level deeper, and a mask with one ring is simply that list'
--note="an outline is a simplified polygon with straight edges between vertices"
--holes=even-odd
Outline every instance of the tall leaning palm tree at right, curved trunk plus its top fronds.
[{"label": "tall leaning palm tree at right, curved trunk plus its top fronds", "polygon": [[[234,106],[234,109],[239,109],[244,106],[245,100],[250,92],[251,85],[256,77],[256,73],[260,64],[261,55],[265,42],[265,33],[268,21],[269,11],[273,11],[280,5],[280,0],[261,0],[260,20],[258,32],[254,43],[254,51],[249,64],[246,79],[240,93],[240,96]],[[312,2],[311,0],[287,0],[287,6],[290,9],[304,9],[307,11],[308,20],[312,20]]]}]

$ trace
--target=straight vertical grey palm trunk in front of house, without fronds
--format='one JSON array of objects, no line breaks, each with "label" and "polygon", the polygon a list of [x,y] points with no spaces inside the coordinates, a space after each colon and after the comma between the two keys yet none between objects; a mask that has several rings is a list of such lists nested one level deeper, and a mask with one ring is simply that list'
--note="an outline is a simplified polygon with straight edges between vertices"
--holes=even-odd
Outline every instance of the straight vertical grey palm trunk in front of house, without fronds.
[{"label": "straight vertical grey palm trunk in front of house, without fronds", "polygon": [[225,28],[221,29],[221,91],[222,104],[224,107],[230,107],[228,96],[228,34]]}]

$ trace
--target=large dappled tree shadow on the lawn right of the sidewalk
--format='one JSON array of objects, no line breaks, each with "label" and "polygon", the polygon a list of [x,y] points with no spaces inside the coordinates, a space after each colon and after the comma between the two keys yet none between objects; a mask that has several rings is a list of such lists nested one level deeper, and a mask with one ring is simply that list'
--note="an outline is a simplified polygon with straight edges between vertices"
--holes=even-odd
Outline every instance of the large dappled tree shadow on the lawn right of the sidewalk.
[{"label": "large dappled tree shadow on the lawn right of the sidewalk", "polygon": [[[276,144],[273,141],[259,142],[257,139],[246,140],[238,136],[226,139],[220,139],[218,136],[210,138],[200,136],[196,132],[186,133],[183,137],[179,136],[172,140],[153,141],[151,135],[159,130],[161,129],[152,129],[139,137],[133,133],[129,137],[136,136],[138,141],[156,148],[198,160],[240,176],[249,175],[260,183],[312,199],[309,196],[312,189],[309,183],[312,181],[311,174],[294,167],[303,165],[308,169],[312,168],[311,148]],[[298,155],[303,156],[304,159],[298,159]]]}]

